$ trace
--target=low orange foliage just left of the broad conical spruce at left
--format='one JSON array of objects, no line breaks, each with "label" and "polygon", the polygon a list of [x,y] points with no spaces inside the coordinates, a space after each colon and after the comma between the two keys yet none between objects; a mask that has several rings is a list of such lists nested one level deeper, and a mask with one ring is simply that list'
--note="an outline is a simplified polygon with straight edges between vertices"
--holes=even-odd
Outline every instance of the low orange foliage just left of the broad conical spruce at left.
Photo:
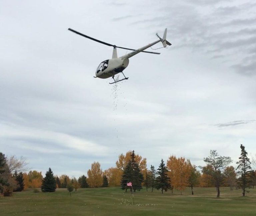
[{"label": "low orange foliage just left of the broad conical spruce at left", "polygon": [[23,173],[24,179],[24,190],[27,188],[39,188],[42,185],[42,172],[36,170],[29,171],[28,173]]}]

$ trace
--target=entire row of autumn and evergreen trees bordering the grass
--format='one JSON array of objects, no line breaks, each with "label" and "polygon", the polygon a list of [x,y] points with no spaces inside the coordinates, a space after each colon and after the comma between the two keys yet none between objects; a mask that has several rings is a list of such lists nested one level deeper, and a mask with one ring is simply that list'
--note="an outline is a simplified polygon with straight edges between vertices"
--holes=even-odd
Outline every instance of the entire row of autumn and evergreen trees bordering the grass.
[{"label": "entire row of autumn and evergreen trees bordering the grass", "polygon": [[[211,150],[210,155],[204,158],[205,166],[196,167],[190,160],[184,157],[171,155],[165,165],[163,159],[158,168],[153,165],[147,169],[146,158],[128,151],[125,155],[120,154],[116,161],[116,167],[111,167],[105,171],[100,168],[99,162],[94,162],[91,169],[87,171],[87,176],[82,175],[78,179],[69,178],[63,174],[54,176],[51,168],[46,172],[45,177],[36,170],[28,173],[22,172],[26,164],[24,158],[17,159],[12,156],[9,160],[0,153],[0,193],[10,196],[13,191],[22,191],[27,188],[40,188],[43,192],[53,192],[56,188],[69,188],[77,190],[87,187],[108,187],[121,186],[121,189],[139,191],[142,187],[148,191],[154,189],[161,193],[167,190],[176,189],[182,192],[186,187],[191,188],[194,194],[194,187],[216,187],[217,197],[220,197],[220,187],[229,186],[242,189],[245,196],[246,188],[254,187],[256,184],[256,172],[252,170],[250,160],[243,145],[241,156],[237,161],[237,168],[229,166],[232,162],[230,157],[219,156],[216,150]],[[71,195],[71,194],[70,194]]]}]

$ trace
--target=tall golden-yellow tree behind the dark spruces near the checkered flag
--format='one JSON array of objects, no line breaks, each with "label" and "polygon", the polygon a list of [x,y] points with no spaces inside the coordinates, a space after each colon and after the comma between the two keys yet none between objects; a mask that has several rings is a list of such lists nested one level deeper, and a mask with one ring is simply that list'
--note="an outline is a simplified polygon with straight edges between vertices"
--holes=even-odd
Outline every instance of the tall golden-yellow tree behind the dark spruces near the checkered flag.
[{"label": "tall golden-yellow tree behind the dark spruces near the checkered flag", "polygon": [[[128,152],[126,152],[125,155],[122,153],[122,154],[120,154],[118,156],[118,160],[116,161],[116,167],[119,170],[121,170],[122,172],[124,171],[124,169],[125,169],[126,165],[128,164],[129,160],[131,160],[131,154],[132,154],[132,151],[128,151]],[[135,154],[135,161],[138,163],[140,172],[143,174],[144,179],[146,179],[146,175],[147,175],[147,159],[146,158],[142,158],[138,154]],[[121,182],[122,174],[120,175],[119,185],[120,185],[120,182]]]}]

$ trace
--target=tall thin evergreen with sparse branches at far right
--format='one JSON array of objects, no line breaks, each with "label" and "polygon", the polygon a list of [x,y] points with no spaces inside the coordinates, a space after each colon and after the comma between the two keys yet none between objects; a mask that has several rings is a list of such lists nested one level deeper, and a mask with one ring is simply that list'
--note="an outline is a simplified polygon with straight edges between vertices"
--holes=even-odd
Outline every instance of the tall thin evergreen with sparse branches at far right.
[{"label": "tall thin evergreen with sparse branches at far right", "polygon": [[242,188],[243,190],[243,196],[245,196],[245,188],[248,187],[249,179],[248,176],[251,172],[251,162],[250,159],[247,157],[247,152],[245,151],[245,147],[241,144],[241,156],[239,157],[239,161],[236,162],[238,164],[236,170],[237,174],[240,176],[238,179],[238,185]]}]

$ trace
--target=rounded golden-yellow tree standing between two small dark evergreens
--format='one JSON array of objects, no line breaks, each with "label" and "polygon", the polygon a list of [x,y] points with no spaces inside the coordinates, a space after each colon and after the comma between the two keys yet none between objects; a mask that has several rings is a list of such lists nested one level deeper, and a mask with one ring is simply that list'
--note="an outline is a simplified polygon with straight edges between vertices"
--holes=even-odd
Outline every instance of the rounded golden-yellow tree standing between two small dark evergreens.
[{"label": "rounded golden-yellow tree standing between two small dark evergreens", "polygon": [[92,163],[91,169],[87,172],[87,183],[90,187],[101,187],[103,184],[103,172],[99,162]]}]

